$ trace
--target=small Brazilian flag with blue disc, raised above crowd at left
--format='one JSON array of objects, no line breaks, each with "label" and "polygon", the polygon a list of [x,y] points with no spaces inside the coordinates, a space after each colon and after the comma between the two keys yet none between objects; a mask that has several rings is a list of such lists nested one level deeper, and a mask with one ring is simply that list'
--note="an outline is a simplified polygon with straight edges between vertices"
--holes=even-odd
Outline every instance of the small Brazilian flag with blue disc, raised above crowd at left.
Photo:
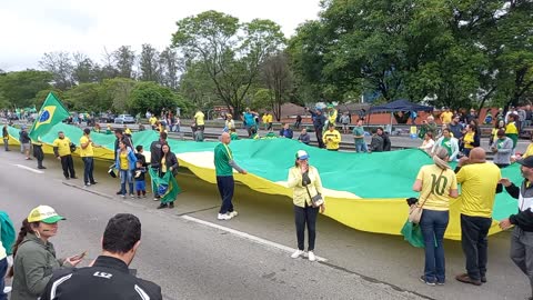
[{"label": "small Brazilian flag with blue disc, raised above crowd at left", "polygon": [[47,100],[44,100],[44,103],[42,103],[36,122],[31,127],[30,138],[37,140],[38,137],[44,136],[53,126],[62,122],[64,119],[69,118],[69,111],[58,98],[50,92]]}]

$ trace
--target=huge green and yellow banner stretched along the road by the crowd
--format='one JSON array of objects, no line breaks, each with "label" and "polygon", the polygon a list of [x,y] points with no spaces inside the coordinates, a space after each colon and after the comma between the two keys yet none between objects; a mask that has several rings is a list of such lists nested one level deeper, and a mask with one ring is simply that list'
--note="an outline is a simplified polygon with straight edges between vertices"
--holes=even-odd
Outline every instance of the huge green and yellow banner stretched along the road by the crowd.
[{"label": "huge green and yellow banner stretched along the road by the crowd", "polygon": [[[81,129],[58,123],[41,136],[44,152],[52,153],[51,143],[60,130],[74,142],[82,136]],[[9,128],[12,138],[17,139],[18,132],[18,129]],[[94,132],[91,137],[103,147],[94,149],[94,158],[113,160],[114,137]],[[133,143],[150,149],[150,143],[158,138],[154,131],[135,132]],[[169,139],[169,144],[181,167],[188,168],[202,180],[217,182],[213,149],[218,142]],[[235,172],[237,181],[261,193],[278,194],[286,201],[292,201],[286,177],[289,168],[294,166],[294,154],[301,149],[308,151],[310,163],[318,168],[324,186],[325,216],[358,230],[386,234],[400,234],[408,218],[405,198],[419,196],[412,191],[412,186],[420,167],[433,163],[419,149],[370,154],[333,152],[290,139],[237,140],[231,141],[230,148],[234,160],[249,172],[245,176]],[[502,177],[517,184],[523,180],[516,164],[502,169]],[[505,191],[497,194],[490,233],[501,231],[497,221],[516,213],[516,200]],[[461,238],[460,210],[461,198],[451,200],[447,239]]]}]

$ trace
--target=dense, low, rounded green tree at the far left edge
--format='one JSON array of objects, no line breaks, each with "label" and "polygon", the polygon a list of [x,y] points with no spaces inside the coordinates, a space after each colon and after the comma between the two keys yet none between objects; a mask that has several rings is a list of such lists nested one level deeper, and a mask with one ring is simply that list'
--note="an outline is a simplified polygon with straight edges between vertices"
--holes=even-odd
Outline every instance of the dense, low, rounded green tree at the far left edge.
[{"label": "dense, low, rounded green tree at the far left edge", "polygon": [[51,89],[53,74],[47,71],[27,70],[0,76],[0,94],[10,106],[23,108],[36,103],[36,94]]}]

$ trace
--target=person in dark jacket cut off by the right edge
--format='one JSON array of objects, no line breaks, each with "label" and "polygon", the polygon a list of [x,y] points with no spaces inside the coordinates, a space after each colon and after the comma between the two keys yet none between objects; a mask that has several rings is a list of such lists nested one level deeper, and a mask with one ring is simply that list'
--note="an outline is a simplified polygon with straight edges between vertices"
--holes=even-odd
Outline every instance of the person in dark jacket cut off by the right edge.
[{"label": "person in dark jacket cut off by the right edge", "polygon": [[517,160],[524,181],[516,187],[507,178],[502,178],[500,183],[505,187],[507,193],[519,199],[519,212],[500,221],[500,228],[506,230],[514,226],[511,236],[511,260],[527,276],[532,289],[533,299],[533,157]]}]

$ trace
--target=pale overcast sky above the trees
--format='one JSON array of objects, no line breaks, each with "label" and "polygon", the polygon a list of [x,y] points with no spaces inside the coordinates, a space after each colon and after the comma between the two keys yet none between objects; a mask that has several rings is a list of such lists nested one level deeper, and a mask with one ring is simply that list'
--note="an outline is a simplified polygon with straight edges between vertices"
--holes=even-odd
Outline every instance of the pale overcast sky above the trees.
[{"label": "pale overcast sky above the trees", "polygon": [[104,49],[170,44],[175,21],[217,10],[250,21],[271,19],[286,37],[316,19],[319,0],[1,0],[0,69],[38,68],[44,52],[83,52],[101,62]]}]

